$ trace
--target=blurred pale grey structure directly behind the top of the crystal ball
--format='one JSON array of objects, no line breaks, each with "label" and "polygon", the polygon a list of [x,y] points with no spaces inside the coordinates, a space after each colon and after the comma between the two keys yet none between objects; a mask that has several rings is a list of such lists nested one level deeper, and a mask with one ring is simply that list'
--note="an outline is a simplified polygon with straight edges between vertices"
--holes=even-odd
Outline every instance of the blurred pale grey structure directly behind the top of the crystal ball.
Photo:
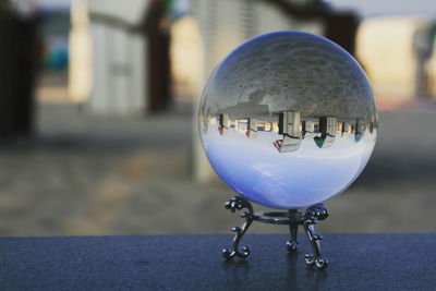
[{"label": "blurred pale grey structure directly behind the top of the crystal ball", "polygon": [[[202,82],[203,90],[215,66],[234,48],[245,40],[275,31],[295,29],[325,35],[322,17],[291,16],[275,1],[264,0],[191,0],[192,15],[197,21],[203,46]],[[284,1],[312,10],[311,0]]]}]

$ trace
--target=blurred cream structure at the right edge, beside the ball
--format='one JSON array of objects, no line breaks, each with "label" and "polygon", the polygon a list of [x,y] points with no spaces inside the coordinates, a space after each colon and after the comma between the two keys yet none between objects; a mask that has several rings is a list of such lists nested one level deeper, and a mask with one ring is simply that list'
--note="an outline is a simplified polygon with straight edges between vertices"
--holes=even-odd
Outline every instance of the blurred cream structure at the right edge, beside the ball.
[{"label": "blurred cream structure at the right edge, beside the ball", "polygon": [[362,22],[356,56],[379,105],[436,96],[435,29],[436,21],[423,16],[379,16]]}]

